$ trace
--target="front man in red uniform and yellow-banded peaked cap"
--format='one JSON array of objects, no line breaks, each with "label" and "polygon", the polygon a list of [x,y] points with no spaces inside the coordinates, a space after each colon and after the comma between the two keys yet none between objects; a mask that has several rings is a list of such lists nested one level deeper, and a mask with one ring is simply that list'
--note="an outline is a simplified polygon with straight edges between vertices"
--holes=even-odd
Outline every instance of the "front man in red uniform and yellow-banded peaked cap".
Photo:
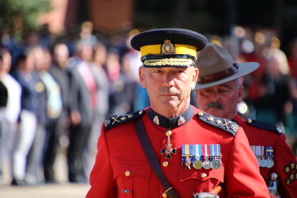
[{"label": "front man in red uniform and yellow-banded peaked cap", "polygon": [[[105,120],[87,198],[176,197],[172,190],[191,198],[217,186],[221,198],[269,197],[243,129],[190,105],[196,52],[206,44],[203,35],[185,29],[150,30],[131,40],[141,52],[140,82],[151,106]],[[161,185],[146,157],[134,127],[139,121],[172,188]]]}]

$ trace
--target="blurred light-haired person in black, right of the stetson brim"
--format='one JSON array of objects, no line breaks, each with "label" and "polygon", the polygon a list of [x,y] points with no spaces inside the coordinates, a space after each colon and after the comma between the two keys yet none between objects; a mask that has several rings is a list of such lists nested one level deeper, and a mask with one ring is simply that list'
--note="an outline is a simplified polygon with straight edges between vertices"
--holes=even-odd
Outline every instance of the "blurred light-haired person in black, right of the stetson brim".
[{"label": "blurred light-haired person in black, right of the stetson brim", "polygon": [[[269,49],[267,70],[262,78],[261,93],[253,102],[257,120],[286,126],[286,104],[290,102],[289,67],[286,55],[276,48]],[[275,105],[277,104],[277,105]]]}]

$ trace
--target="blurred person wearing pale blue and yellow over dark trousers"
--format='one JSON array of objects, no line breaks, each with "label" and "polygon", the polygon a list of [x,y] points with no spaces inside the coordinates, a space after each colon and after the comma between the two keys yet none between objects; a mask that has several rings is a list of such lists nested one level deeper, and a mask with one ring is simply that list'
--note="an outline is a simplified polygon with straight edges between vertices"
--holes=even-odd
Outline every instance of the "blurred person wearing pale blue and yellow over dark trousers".
[{"label": "blurred person wearing pale blue and yellow over dark trousers", "polygon": [[45,84],[47,100],[46,115],[48,122],[45,126],[46,136],[43,149],[43,172],[46,183],[57,183],[54,177],[54,161],[59,148],[59,116],[62,112],[62,98],[59,84],[49,73],[52,65],[52,57],[49,50],[44,49],[44,69],[39,72],[39,76]]}]

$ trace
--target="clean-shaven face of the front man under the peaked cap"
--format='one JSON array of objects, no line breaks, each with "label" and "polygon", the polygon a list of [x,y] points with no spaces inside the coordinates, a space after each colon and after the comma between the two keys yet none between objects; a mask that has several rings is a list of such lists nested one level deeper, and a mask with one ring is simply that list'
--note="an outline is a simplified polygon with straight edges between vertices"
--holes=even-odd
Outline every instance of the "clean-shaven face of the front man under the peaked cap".
[{"label": "clean-shaven face of the front man under the peaked cap", "polygon": [[140,82],[147,89],[152,108],[174,111],[188,106],[198,69],[194,67],[139,68]]}]

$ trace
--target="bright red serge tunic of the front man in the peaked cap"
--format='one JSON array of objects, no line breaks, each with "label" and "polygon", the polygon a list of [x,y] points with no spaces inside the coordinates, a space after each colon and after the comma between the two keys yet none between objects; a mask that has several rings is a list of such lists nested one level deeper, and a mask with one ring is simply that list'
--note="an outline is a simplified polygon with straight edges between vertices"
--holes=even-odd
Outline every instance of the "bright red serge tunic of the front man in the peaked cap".
[{"label": "bright red serge tunic of the front man in the peaked cap", "polygon": [[[142,115],[145,131],[160,166],[178,196],[191,198],[193,193],[209,192],[220,184],[222,191],[218,195],[221,198],[269,197],[256,157],[249,147],[243,129],[231,129],[231,125],[236,124],[234,122],[230,122],[226,129],[223,125],[225,119],[212,116],[213,120],[208,121],[210,115],[203,112],[203,115],[200,113],[202,116],[198,116],[198,112],[200,110],[190,105],[188,110],[180,115],[185,118],[185,122],[180,126],[177,124],[179,116],[167,119],[149,107],[130,115],[130,120]],[[155,123],[153,121],[155,116],[158,117],[159,125],[156,120]],[[122,117],[127,119],[123,118],[122,121]],[[103,124],[87,198],[162,197],[165,190],[146,158],[133,122],[128,119],[128,115],[116,115]],[[222,123],[217,124],[217,120]],[[176,154],[171,154],[171,159],[166,159],[166,154],[161,155],[161,149],[166,149],[166,127],[170,127],[172,132],[171,148],[176,148]],[[182,166],[182,144],[220,144],[222,166],[216,170],[197,170],[191,166],[190,170],[186,170],[186,166]],[[168,166],[163,166],[164,161],[168,162]]]}]

